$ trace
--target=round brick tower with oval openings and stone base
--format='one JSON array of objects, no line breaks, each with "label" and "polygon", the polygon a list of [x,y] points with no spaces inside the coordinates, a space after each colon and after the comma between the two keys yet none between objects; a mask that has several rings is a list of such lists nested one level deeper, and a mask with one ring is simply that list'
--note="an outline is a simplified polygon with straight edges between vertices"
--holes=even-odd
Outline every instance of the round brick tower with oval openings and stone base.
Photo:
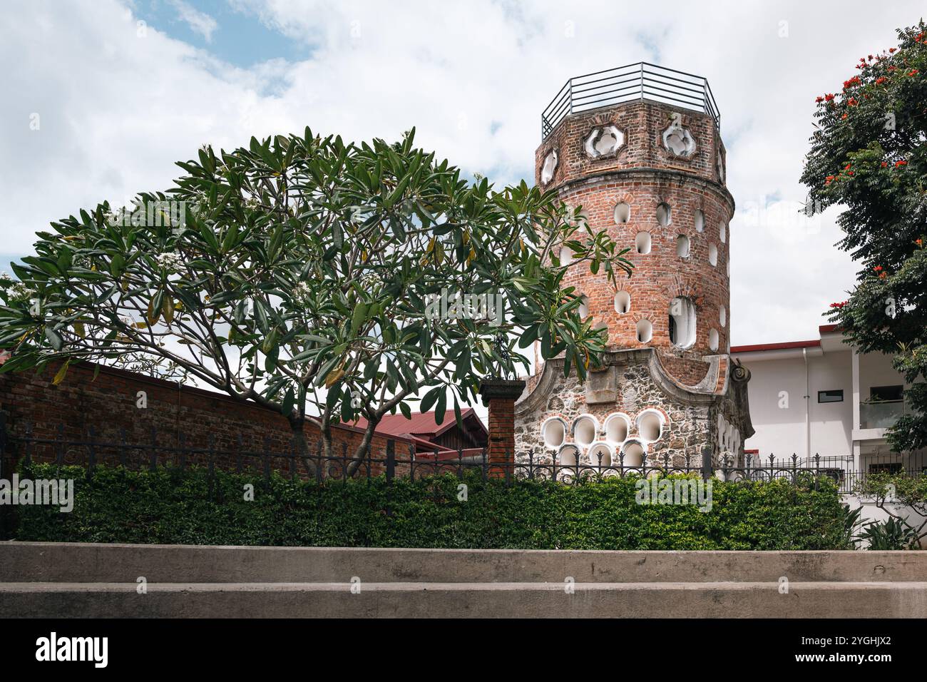
[{"label": "round brick tower with oval openings and stone base", "polygon": [[696,467],[708,446],[739,462],[754,431],[749,373],[728,354],[734,199],[707,81],[645,63],[572,78],[541,127],[537,184],[628,247],[634,274],[617,292],[588,268],[565,278],[609,350],[584,384],[562,358],[537,363],[515,405],[517,459]]}]

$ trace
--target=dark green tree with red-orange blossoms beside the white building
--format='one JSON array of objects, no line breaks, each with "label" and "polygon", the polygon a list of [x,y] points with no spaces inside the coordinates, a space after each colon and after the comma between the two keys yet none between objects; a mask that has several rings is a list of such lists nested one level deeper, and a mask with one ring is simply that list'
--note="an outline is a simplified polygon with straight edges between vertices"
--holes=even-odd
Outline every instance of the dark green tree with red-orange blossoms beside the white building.
[{"label": "dark green tree with red-orange blossoms beside the white building", "polygon": [[888,438],[927,446],[927,28],[859,59],[841,93],[818,97],[802,182],[821,206],[841,204],[840,247],[860,263],[858,283],[829,315],[860,352],[895,354],[913,414]]}]

